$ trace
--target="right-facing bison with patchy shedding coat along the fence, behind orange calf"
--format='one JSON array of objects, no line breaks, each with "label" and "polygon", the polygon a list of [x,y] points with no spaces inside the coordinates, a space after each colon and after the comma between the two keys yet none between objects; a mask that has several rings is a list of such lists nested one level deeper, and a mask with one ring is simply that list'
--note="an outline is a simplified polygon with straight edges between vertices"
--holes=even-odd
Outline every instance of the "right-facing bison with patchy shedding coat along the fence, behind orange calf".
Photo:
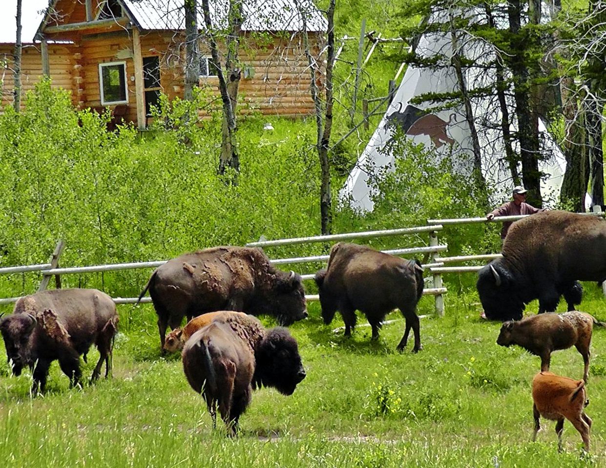
[{"label": "right-facing bison with patchy shedding coat along the fence, behind orange calf", "polygon": [[166,328],[216,310],[271,314],[281,325],[307,317],[301,276],[271,265],[261,249],[213,247],[185,253],[156,268],[139,295],[150,291],[161,348]]}]

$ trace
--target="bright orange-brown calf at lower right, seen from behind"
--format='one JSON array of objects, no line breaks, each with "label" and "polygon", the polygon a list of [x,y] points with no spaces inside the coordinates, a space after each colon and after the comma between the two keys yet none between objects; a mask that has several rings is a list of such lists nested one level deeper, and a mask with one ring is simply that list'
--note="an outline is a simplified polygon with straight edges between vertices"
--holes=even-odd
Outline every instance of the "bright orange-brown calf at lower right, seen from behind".
[{"label": "bright orange-brown calf at lower right, seen from behind", "polygon": [[570,421],[583,438],[585,450],[589,451],[589,431],[591,418],[585,414],[584,408],[589,400],[585,400],[585,382],[573,380],[551,372],[539,372],[532,381],[532,398],[534,401],[534,434],[541,429],[539,417],[558,421],[558,450],[562,450],[562,432],[564,418]]}]

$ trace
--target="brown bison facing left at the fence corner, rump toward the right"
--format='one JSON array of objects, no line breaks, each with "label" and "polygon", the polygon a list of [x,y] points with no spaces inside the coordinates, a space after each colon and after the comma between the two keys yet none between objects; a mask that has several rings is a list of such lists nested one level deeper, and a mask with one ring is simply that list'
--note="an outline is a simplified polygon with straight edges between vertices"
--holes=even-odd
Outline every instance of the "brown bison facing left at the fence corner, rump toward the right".
[{"label": "brown bison facing left at the fence corner, rump toward the right", "polygon": [[333,320],[338,310],[345,322],[345,336],[350,336],[356,325],[355,311],[359,310],[372,327],[372,339],[378,339],[385,315],[399,308],[406,319],[406,328],[398,351],[406,346],[411,328],[415,333],[413,352],[422,349],[416,305],[423,294],[424,282],[418,260],[339,242],[330,249],[327,269],[318,271],[315,281],[325,324]]}]

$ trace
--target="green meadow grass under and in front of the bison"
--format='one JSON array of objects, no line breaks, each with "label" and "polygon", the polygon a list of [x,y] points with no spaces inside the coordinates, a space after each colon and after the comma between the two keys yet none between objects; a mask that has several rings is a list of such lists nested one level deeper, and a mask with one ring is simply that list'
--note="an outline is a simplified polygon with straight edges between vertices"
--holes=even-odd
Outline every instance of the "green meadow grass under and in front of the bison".
[{"label": "green meadow grass under and in front of the bison", "polygon": [[[583,310],[604,320],[601,291],[585,287]],[[592,454],[581,456],[581,437],[568,422],[558,453],[551,421],[530,442],[539,358],[497,346],[500,324],[481,322],[476,302],[472,293],[447,296],[439,318],[431,298],[422,299],[418,312],[428,317],[418,354],[410,353],[412,343],[395,352],[403,321],[385,325],[378,342],[370,342],[368,327],[344,339],[332,331],[342,323],[326,327],[311,304],[310,318],[291,327],[307,378],[290,397],[256,391],[236,440],[224,437],[222,424],[211,429],[178,356],[160,356],[151,305],[121,305],[113,379],[68,389],[53,363],[47,394],[30,398],[30,375],[8,377],[0,364],[0,460],[19,467],[606,466],[606,331],[594,330],[592,345]],[[95,356],[89,353],[85,375]],[[580,379],[582,369],[574,348],[552,357],[553,372]]]}]

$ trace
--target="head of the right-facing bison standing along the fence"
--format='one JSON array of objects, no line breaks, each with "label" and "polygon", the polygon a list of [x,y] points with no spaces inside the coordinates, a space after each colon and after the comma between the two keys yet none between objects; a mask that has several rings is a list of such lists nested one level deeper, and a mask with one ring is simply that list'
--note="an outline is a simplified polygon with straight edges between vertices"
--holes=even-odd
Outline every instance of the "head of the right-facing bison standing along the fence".
[{"label": "head of the right-facing bison standing along the fence", "polygon": [[278,319],[278,323],[284,327],[307,317],[307,304],[301,275],[294,271],[279,272],[269,306],[271,313]]}]

